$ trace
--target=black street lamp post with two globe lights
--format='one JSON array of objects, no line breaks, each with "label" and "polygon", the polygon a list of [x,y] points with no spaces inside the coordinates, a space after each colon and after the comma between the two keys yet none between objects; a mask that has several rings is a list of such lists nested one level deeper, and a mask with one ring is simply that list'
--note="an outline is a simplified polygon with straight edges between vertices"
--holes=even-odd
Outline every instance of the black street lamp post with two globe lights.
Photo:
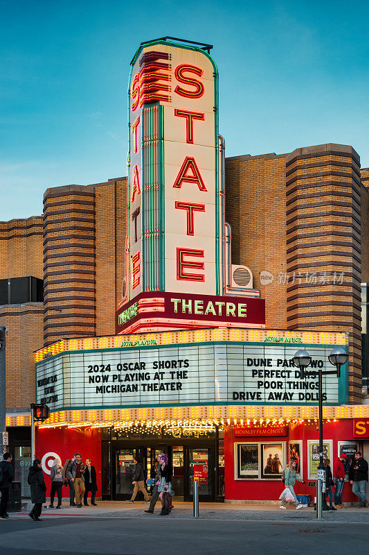
[{"label": "black street lamp post with two globe lights", "polygon": [[[325,482],[325,466],[323,463],[323,374],[341,375],[341,366],[348,361],[348,354],[341,347],[332,350],[328,357],[330,364],[336,366],[336,370],[325,370],[318,368],[318,398],[319,398],[319,465],[318,479],[316,480],[316,518],[322,518],[323,483]],[[305,350],[297,351],[292,359],[294,365],[300,368],[301,378],[306,377],[305,368],[310,365],[312,357]]]}]

